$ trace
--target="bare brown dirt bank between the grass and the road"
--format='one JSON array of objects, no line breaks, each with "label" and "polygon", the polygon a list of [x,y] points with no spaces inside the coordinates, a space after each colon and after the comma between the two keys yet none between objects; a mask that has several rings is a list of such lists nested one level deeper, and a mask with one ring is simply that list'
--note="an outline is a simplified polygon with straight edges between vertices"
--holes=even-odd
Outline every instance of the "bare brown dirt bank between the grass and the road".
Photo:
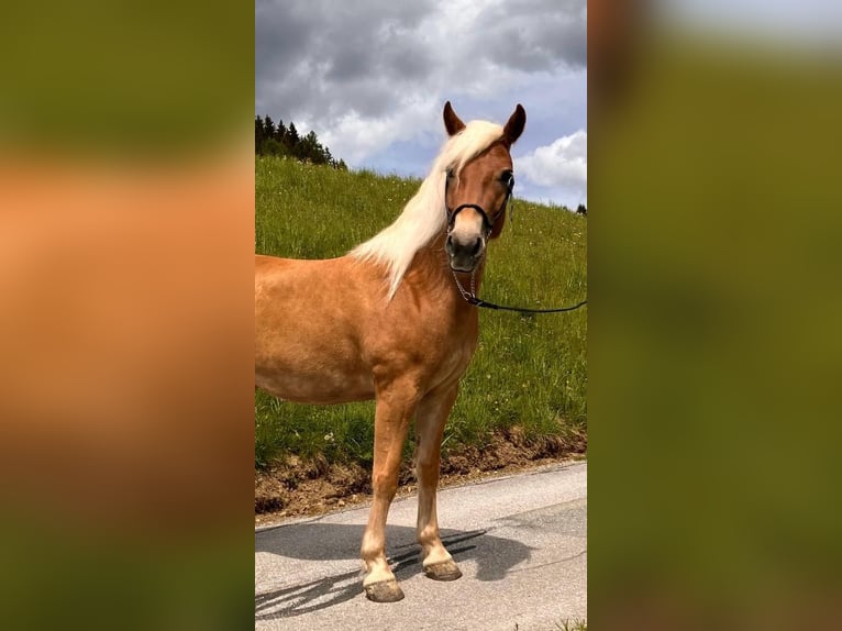
[{"label": "bare brown dirt bank between the grass and the road", "polygon": [[[508,475],[552,462],[581,457],[587,436],[541,436],[527,440],[520,428],[496,433],[487,444],[452,450],[442,458],[440,486],[455,486],[491,473]],[[403,464],[398,496],[416,490],[411,465]],[[370,472],[356,464],[335,464],[326,460],[301,461],[290,457],[267,472],[255,473],[255,521],[263,525],[278,519],[321,514],[363,503],[370,499]]]}]

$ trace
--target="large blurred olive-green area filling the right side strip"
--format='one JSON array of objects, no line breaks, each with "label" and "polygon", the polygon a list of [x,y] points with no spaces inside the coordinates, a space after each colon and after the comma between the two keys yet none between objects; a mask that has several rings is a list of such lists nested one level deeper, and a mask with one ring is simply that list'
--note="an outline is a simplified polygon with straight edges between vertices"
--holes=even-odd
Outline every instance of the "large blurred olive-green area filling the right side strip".
[{"label": "large blurred olive-green area filling the right side strip", "polygon": [[842,73],[650,45],[590,122],[589,621],[813,628],[842,602]]}]

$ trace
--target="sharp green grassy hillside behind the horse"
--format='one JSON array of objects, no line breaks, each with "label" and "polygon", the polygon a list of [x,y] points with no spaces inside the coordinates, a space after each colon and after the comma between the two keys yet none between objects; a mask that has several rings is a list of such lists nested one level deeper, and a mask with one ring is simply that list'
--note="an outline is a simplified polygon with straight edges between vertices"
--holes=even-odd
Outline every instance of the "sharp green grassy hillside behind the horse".
[{"label": "sharp green grassy hillside behind the horse", "polygon": [[[291,258],[341,256],[391,223],[419,184],[258,157],[255,250]],[[584,299],[587,220],[517,197],[513,203],[514,223],[489,247],[480,296],[538,308]],[[586,332],[587,309],[546,316],[481,312],[479,346],[445,429],[444,451],[483,445],[496,430],[514,425],[528,439],[584,433]],[[255,465],[265,467],[288,454],[368,465],[373,419],[373,402],[301,406],[258,391]]]}]

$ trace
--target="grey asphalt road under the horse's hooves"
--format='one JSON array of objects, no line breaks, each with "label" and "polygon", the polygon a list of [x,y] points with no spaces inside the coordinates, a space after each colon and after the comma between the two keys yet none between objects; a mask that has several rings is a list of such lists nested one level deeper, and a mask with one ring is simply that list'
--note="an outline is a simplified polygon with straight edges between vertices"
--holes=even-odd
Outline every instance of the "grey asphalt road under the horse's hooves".
[{"label": "grey asphalt road under the horse's hooves", "polygon": [[587,617],[587,463],[553,465],[439,494],[442,540],[463,572],[424,577],[414,497],[392,503],[387,554],[406,598],[363,594],[368,509],[255,532],[255,627],[378,631],[557,630]]}]

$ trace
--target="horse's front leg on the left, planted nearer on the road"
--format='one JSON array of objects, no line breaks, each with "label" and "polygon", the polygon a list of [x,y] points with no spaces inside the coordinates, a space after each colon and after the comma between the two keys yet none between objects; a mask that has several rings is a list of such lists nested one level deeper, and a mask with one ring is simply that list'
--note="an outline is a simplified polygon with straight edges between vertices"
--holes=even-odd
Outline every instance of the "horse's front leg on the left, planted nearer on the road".
[{"label": "horse's front leg on the left, planted nearer on the road", "polygon": [[400,387],[392,384],[378,388],[372,469],[374,500],[361,549],[366,571],[363,587],[366,597],[375,602],[395,602],[403,598],[403,591],[386,560],[386,518],[398,490],[403,441],[417,405],[418,397],[411,385]]}]

